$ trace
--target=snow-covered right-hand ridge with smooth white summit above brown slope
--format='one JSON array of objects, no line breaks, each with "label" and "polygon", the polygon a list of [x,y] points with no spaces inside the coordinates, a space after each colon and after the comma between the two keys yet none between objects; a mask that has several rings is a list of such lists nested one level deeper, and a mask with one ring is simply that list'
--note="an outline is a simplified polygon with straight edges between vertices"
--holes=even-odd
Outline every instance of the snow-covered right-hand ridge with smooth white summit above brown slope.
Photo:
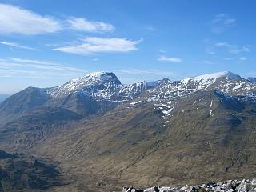
[{"label": "snow-covered right-hand ridge with smooth white summit above brown slope", "polygon": [[199,75],[194,78],[186,78],[177,82],[166,82],[154,90],[149,90],[152,101],[170,101],[174,98],[185,97],[198,90],[221,90],[226,94],[254,94],[256,84],[241,78],[231,72],[219,72],[214,74]]}]

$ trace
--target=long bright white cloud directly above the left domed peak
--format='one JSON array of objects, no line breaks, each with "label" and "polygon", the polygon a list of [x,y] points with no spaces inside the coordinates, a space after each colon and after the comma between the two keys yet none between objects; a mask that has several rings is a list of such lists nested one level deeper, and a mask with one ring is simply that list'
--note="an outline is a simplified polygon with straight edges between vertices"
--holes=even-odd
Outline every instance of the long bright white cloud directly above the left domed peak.
[{"label": "long bright white cloud directly above the left domed peak", "polygon": [[62,52],[70,54],[95,54],[99,52],[128,52],[138,50],[136,47],[139,41],[130,41],[125,38],[86,38],[82,40],[82,44],[72,46],[62,46],[55,48]]}]

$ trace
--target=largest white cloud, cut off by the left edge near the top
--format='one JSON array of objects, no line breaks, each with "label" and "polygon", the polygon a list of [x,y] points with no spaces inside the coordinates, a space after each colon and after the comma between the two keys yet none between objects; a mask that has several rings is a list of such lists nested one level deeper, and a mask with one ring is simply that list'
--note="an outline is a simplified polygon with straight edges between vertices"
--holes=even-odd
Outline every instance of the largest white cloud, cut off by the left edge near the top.
[{"label": "largest white cloud, cut off by the left edge near the top", "polygon": [[62,30],[62,26],[52,17],[0,3],[0,29],[0,34],[46,34]]}]

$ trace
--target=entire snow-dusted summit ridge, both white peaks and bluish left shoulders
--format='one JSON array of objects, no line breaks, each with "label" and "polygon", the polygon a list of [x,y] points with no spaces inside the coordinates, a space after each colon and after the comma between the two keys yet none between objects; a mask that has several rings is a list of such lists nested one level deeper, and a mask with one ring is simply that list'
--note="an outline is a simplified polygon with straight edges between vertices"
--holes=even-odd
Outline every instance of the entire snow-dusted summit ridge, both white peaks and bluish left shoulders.
[{"label": "entire snow-dusted summit ridge, both white peaks and bluish left shoulders", "polygon": [[[4,114],[4,117],[6,114],[19,116],[41,106],[62,107],[82,115],[97,114],[136,98],[154,102],[155,105],[165,105],[163,113],[169,114],[176,99],[187,97],[198,90],[220,90],[230,95],[254,96],[256,83],[254,78],[241,78],[225,71],[176,82],[164,78],[162,81],[124,85],[113,73],[94,72],[61,86],[22,90],[1,103],[0,114]],[[145,91],[147,94],[141,96]]]}]

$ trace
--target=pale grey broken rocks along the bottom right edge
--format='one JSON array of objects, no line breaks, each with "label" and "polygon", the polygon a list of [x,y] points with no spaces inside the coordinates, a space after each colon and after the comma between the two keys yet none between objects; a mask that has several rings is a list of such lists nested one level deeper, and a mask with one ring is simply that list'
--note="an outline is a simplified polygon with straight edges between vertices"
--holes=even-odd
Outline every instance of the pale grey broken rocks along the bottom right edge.
[{"label": "pale grey broken rocks along the bottom right edge", "polygon": [[256,192],[256,178],[242,181],[229,180],[227,182],[207,182],[196,186],[160,187],[154,186],[147,189],[135,189],[133,186],[123,187],[122,192]]}]

